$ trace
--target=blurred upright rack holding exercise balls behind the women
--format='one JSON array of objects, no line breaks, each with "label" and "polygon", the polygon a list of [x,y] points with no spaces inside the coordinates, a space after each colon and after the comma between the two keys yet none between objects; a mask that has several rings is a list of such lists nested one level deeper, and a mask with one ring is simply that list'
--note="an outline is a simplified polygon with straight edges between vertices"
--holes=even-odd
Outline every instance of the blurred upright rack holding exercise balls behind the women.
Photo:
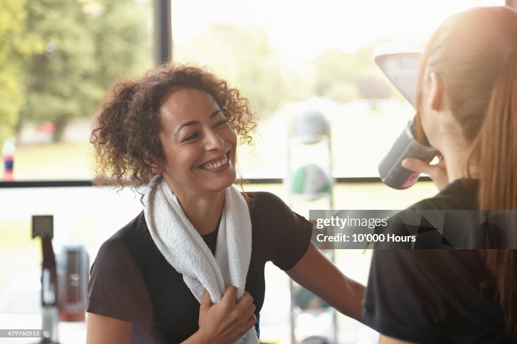
[{"label": "blurred upright rack holding exercise balls behind the women", "polygon": [[[292,120],[292,130],[287,145],[287,187],[288,204],[293,211],[309,218],[309,209],[333,209],[331,176],[330,123],[327,117],[314,108],[305,108]],[[326,251],[333,260],[333,250]],[[291,290],[291,340],[300,342],[307,334],[322,334],[322,329],[302,323],[307,316],[325,318],[329,328],[323,335],[332,338],[325,343],[337,341],[337,315],[333,308],[319,307],[317,298],[308,290],[289,282]],[[307,299],[307,304],[299,302]],[[316,301],[316,302],[314,302]],[[317,306],[317,307],[314,307]],[[322,318],[323,317],[323,318]],[[300,333],[299,330],[306,333]],[[314,337],[311,338],[323,338]],[[306,338],[307,339],[307,338]],[[306,341],[303,341],[304,343]],[[324,343],[314,341],[314,343]]]}]

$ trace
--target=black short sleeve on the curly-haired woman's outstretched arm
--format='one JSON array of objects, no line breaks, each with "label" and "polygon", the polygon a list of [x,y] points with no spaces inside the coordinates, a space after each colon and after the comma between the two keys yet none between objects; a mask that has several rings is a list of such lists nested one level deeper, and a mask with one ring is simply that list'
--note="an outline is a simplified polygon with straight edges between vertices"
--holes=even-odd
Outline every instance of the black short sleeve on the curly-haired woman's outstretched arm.
[{"label": "black short sleeve on the curly-haired woman's outstretched arm", "polygon": [[260,227],[267,260],[282,270],[289,270],[307,252],[312,224],[293,212],[278,196],[266,192],[255,194],[250,210],[252,224]]}]

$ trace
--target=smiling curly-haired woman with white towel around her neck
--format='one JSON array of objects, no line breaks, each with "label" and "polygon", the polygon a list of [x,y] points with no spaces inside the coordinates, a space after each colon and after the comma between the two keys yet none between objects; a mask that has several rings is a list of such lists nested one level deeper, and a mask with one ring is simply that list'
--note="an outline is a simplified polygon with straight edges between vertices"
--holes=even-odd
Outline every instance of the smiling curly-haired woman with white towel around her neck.
[{"label": "smiling curly-haired woman with white towel around her neck", "polygon": [[90,138],[96,182],[146,185],[144,211],[92,265],[88,343],[258,343],[267,261],[362,320],[364,287],[309,249],[312,224],[233,185],[237,137],[255,126],[248,100],[202,68],[113,87]]}]

